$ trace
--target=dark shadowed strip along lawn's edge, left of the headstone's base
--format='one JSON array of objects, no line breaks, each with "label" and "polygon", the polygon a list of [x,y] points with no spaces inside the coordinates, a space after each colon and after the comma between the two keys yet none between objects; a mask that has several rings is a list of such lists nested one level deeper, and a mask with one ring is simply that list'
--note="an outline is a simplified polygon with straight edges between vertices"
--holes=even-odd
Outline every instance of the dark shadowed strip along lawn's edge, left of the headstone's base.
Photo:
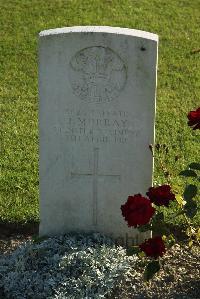
[{"label": "dark shadowed strip along lawn's edge, left of the headstone's base", "polygon": [[12,223],[0,219],[0,236],[9,237],[11,235],[35,235],[39,232],[38,222]]}]

